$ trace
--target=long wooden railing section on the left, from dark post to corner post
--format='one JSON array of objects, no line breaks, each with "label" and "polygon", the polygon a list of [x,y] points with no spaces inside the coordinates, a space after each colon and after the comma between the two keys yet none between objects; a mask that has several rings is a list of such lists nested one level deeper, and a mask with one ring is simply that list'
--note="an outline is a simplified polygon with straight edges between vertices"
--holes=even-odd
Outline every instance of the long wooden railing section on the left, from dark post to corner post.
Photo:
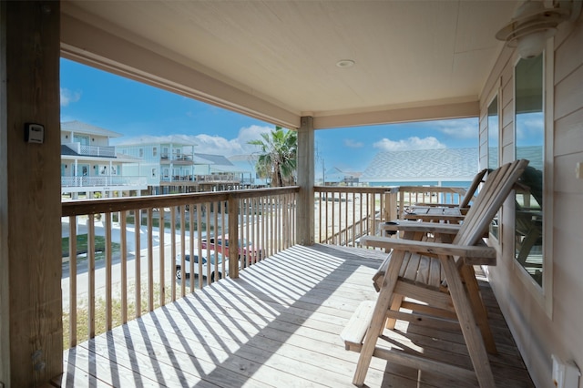
[{"label": "long wooden railing section on the left, from dark post to corner post", "polygon": [[[62,216],[69,237],[68,260],[63,264],[66,348],[219,281],[220,276],[211,272],[228,271],[230,277],[237,277],[255,260],[291,247],[298,189],[64,202]],[[177,281],[178,264],[183,270],[189,265],[189,273],[195,273],[198,265],[203,273],[201,260],[185,261],[187,251],[202,257],[200,240],[213,236],[224,241],[227,233],[228,268],[225,260],[214,260],[207,266],[207,276],[195,281],[193,275],[188,285],[186,276]],[[87,249],[79,254],[77,239],[85,234]],[[239,250],[240,240],[251,245]],[[257,254],[246,253],[251,249]],[[204,253],[210,258],[208,245]]]}]

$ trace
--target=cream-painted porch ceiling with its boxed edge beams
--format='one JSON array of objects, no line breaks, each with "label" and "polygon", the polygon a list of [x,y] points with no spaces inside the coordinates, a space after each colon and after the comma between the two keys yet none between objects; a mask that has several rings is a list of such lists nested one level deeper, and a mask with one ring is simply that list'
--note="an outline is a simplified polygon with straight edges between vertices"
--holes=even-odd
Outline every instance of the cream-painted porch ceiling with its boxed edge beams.
[{"label": "cream-painted porch ceiling with its boxed edge beams", "polygon": [[468,117],[516,6],[65,0],[62,53],[289,128]]}]

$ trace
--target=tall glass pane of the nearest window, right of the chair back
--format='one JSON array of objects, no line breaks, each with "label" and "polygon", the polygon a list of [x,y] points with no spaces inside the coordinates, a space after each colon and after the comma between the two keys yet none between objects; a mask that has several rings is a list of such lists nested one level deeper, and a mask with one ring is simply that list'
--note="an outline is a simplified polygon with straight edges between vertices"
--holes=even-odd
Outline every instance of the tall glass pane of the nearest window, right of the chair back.
[{"label": "tall glass pane of the nearest window, right of the chair back", "polygon": [[543,56],[521,59],[516,82],[516,156],[530,161],[516,190],[515,255],[542,286],[543,168],[545,115],[543,110]]}]

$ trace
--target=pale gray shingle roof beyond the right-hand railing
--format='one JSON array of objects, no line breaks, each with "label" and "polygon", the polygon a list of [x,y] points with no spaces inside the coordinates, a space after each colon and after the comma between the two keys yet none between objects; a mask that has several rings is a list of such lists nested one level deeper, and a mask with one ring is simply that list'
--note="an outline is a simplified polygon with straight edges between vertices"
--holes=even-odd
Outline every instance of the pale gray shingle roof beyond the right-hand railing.
[{"label": "pale gray shingle roof beyond the right-hand railing", "polygon": [[477,148],[439,148],[379,152],[364,169],[361,182],[474,179]]}]

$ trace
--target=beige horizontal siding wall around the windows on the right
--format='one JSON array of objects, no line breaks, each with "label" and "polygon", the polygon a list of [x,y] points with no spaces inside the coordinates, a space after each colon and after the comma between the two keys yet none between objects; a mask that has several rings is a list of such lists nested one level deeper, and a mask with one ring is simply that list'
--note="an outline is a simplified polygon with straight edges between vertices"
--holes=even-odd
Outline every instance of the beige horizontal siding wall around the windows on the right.
[{"label": "beige horizontal siding wall around the windows on the right", "polygon": [[[504,237],[498,265],[489,269],[490,281],[506,320],[517,340],[534,383],[552,386],[551,354],[583,367],[583,179],[575,168],[583,162],[583,16],[574,26],[561,26],[554,53],[554,146],[547,168],[552,188],[552,290],[541,301],[534,287],[519,280],[513,259],[514,214],[503,211]],[[480,161],[486,166],[486,109],[500,92],[502,161],[514,158],[514,80],[516,56],[505,49],[499,56],[481,96]],[[547,195],[547,194],[546,194]],[[510,201],[511,202],[511,201]],[[506,206],[508,202],[506,203]],[[552,291],[552,292],[551,292]],[[579,383],[579,387],[583,386]]]}]

